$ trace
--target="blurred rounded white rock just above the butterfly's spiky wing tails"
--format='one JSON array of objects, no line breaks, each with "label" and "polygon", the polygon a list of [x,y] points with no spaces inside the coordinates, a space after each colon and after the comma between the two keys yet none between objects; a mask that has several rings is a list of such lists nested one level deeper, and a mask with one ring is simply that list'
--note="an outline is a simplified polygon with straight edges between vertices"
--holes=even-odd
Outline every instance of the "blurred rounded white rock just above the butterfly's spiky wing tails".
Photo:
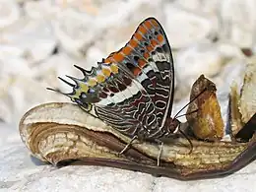
[{"label": "blurred rounded white rock just above the butterfly's spiky wing tails", "polygon": [[76,57],[85,57],[86,50],[101,33],[96,28],[94,18],[71,9],[58,15],[53,22],[53,29],[61,46]]}]

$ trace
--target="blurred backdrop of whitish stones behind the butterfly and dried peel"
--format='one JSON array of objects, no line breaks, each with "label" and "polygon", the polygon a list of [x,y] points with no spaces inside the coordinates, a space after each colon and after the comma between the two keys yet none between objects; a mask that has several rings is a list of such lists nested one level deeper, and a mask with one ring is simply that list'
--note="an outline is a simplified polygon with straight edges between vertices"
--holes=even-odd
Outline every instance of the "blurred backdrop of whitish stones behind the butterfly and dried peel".
[{"label": "blurred backdrop of whitish stones behind the butterfly and dried peel", "polygon": [[225,98],[255,62],[255,10],[255,0],[0,0],[0,131],[17,132],[32,106],[69,101],[46,87],[70,92],[58,76],[82,77],[73,65],[96,66],[148,17],[160,21],[172,47],[174,110],[201,74]]}]

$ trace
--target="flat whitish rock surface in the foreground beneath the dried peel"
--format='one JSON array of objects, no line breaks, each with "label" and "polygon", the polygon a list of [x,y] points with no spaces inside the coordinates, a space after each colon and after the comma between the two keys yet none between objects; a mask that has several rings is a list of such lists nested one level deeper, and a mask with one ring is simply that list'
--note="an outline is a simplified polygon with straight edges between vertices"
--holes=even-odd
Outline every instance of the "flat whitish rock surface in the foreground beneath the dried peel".
[{"label": "flat whitish rock surface in the foreground beneath the dried peel", "polygon": [[[9,129],[12,127],[8,127]],[[1,137],[9,137],[1,135]],[[256,163],[224,178],[178,181],[111,167],[74,165],[56,168],[32,159],[21,141],[0,146],[0,186],[3,191],[247,191],[256,190]],[[234,184],[235,183],[235,184]]]}]

